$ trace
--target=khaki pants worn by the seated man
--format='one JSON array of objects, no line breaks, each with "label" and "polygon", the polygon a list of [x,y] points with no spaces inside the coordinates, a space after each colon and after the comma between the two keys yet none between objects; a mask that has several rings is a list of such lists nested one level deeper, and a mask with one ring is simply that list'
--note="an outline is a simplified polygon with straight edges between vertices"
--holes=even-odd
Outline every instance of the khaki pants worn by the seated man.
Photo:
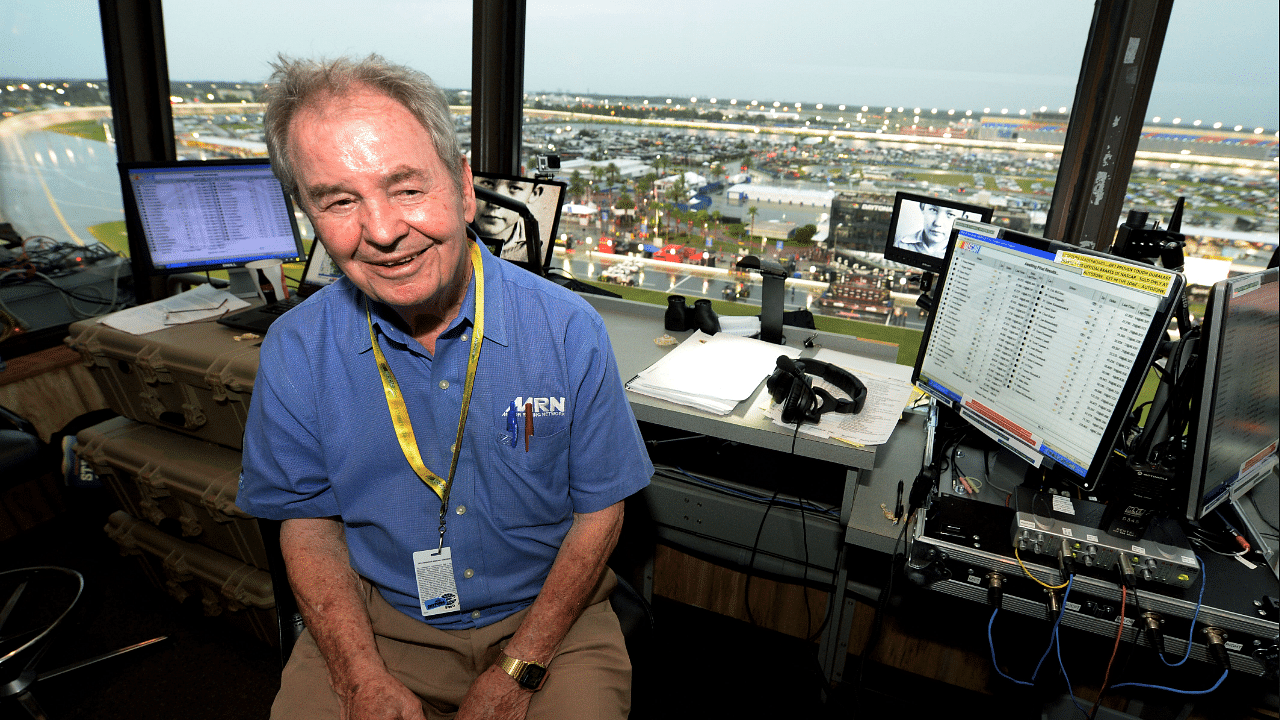
[{"label": "khaki pants worn by the seated man", "polygon": [[[617,584],[605,570],[582,616],[548,665],[527,720],[626,717],[631,708],[631,661],[618,618],[609,606]],[[422,698],[429,720],[453,717],[471,683],[507,646],[527,610],[475,630],[438,630],[396,610],[365,585],[378,650],[392,674]],[[310,630],[302,633],[280,676],[273,720],[338,719],[338,696]]]}]

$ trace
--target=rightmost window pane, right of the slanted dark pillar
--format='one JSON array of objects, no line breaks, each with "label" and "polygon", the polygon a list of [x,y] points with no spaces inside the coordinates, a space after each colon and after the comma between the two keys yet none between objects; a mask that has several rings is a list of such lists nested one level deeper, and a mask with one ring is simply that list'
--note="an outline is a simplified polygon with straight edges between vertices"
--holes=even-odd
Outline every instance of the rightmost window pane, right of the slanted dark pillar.
[{"label": "rightmost window pane, right of the slanted dark pillar", "polygon": [[1164,228],[1187,199],[1193,300],[1233,269],[1265,268],[1276,246],[1280,6],[1244,3],[1229,18],[1248,22],[1208,0],[1174,4],[1119,219],[1148,213]]}]

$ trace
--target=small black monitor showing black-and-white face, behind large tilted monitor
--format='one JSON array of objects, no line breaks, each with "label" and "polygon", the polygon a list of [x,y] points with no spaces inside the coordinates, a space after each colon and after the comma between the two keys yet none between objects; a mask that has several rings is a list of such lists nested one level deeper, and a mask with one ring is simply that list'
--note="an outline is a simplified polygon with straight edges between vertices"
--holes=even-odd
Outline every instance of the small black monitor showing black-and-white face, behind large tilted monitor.
[{"label": "small black monitor showing black-and-white face, behind large tilted monitor", "polygon": [[888,222],[884,259],[941,273],[946,266],[951,224],[961,218],[989,223],[991,213],[991,208],[980,205],[899,192]]}]

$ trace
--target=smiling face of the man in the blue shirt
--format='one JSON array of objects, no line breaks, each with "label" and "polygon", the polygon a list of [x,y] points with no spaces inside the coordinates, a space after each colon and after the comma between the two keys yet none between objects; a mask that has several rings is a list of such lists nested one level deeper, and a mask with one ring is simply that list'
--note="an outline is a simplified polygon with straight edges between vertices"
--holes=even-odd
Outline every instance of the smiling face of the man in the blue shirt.
[{"label": "smiling face of the man in the blue shirt", "polygon": [[470,168],[457,187],[426,129],[369,88],[305,108],[289,133],[303,210],[356,287],[402,314],[461,302]]}]

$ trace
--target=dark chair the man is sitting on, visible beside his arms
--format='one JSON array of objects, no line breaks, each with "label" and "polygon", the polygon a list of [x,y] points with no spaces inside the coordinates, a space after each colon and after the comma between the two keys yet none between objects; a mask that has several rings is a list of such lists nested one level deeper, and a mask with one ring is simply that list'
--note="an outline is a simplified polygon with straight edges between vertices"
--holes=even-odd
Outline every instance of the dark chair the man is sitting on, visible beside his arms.
[{"label": "dark chair the man is sitting on, visible beside his arms", "polygon": [[[284,555],[280,552],[280,520],[259,518],[257,527],[262,536],[262,544],[266,547],[266,559],[271,565],[271,587],[275,592],[276,625],[280,639],[280,667],[284,667],[293,652],[293,643],[298,641],[306,624],[302,621],[297,600],[293,597],[293,588],[284,571]],[[653,635],[653,609],[644,596],[636,592],[621,575],[618,575],[618,587],[609,594],[609,605],[622,626],[622,637],[627,643],[627,655],[631,657],[632,667],[643,665],[643,659],[649,650],[649,639]]]}]

